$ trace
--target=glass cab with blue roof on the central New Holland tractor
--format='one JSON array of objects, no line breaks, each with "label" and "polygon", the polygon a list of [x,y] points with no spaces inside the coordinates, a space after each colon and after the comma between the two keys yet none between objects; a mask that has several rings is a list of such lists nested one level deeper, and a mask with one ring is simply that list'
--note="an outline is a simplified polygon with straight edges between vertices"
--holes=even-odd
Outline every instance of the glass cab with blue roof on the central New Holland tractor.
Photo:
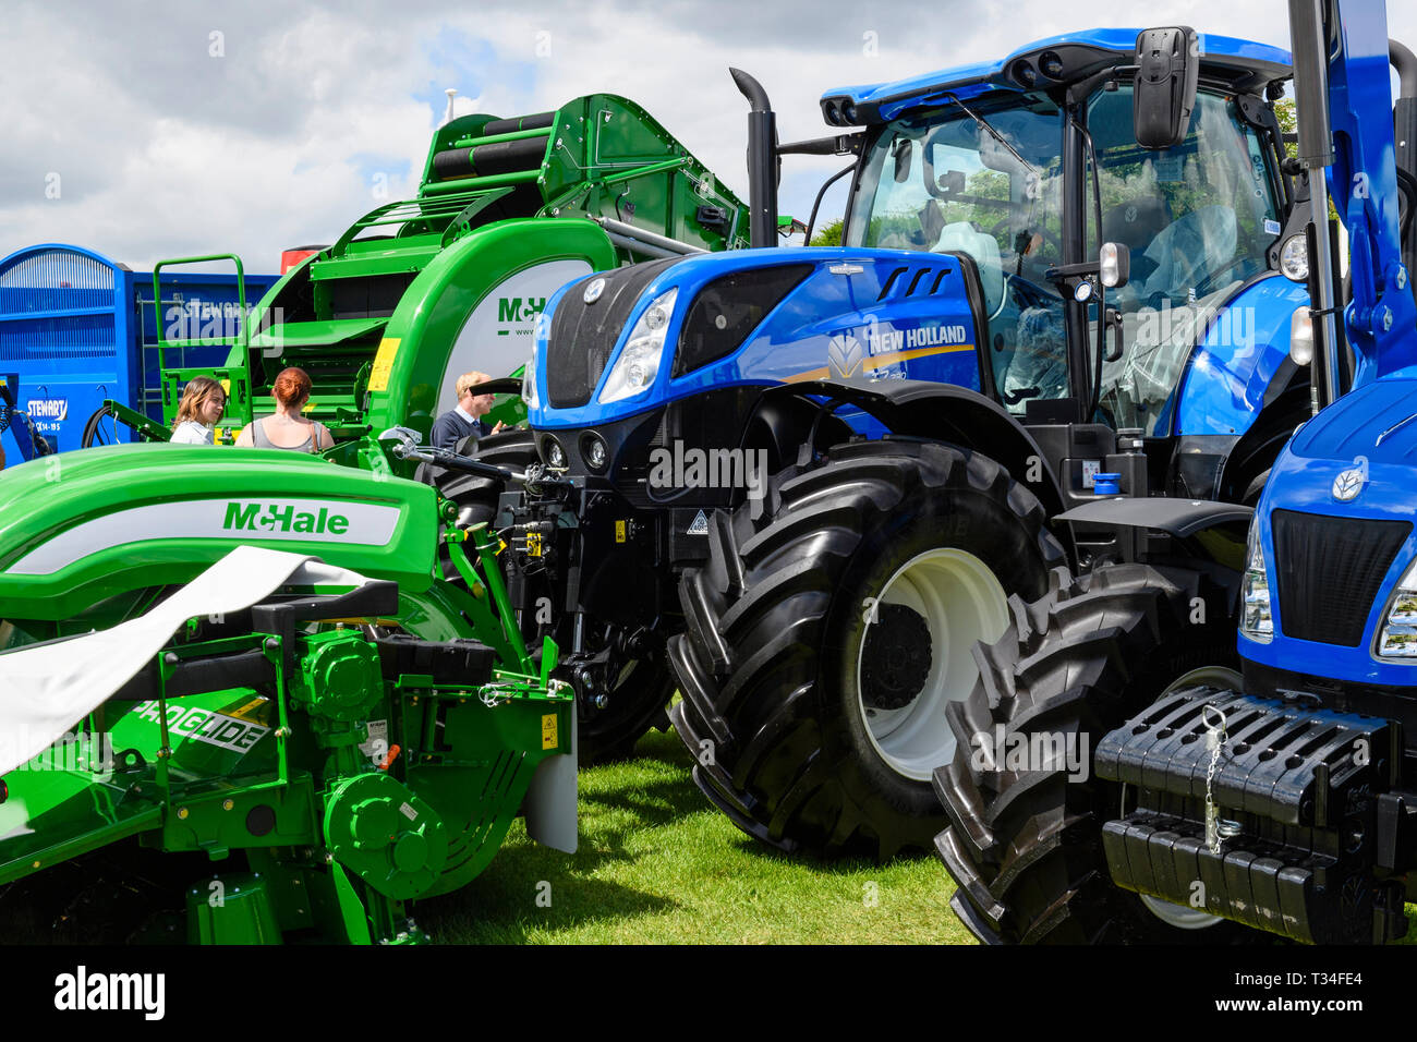
[{"label": "glass cab with blue roof on the central New Holland tractor", "polygon": [[[1144,147],[1131,79],[1110,78],[1135,38],[1041,41],[996,67],[829,94],[823,112],[866,122],[843,244],[949,252],[978,269],[986,394],[1050,420],[1058,405],[1046,403],[1095,401],[1067,418],[1165,435],[1197,337],[1277,267],[1292,190],[1264,98],[1289,71],[1281,51],[1206,37],[1183,138]],[[1131,261],[1107,301],[1063,275],[1102,242]],[[1110,343],[1093,387],[1100,310]]]}]

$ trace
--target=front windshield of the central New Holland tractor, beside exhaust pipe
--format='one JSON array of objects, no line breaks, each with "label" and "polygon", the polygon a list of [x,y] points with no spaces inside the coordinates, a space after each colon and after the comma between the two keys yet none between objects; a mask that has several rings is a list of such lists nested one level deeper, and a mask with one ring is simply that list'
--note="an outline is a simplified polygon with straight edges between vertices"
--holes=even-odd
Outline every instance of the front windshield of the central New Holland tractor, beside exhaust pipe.
[{"label": "front windshield of the central New Holland tractor, beside exhaust pipe", "polygon": [[886,125],[852,197],[846,245],[973,258],[996,390],[1022,413],[1029,398],[1068,393],[1063,298],[1044,276],[1063,261],[1063,118],[1041,96],[969,108],[1007,145],[959,105]]}]

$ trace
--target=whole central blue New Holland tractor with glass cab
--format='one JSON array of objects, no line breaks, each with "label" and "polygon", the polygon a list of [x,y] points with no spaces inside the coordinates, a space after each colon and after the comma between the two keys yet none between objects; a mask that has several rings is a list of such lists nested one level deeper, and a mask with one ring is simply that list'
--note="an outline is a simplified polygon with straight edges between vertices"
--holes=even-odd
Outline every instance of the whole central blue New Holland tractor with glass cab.
[{"label": "whole central blue New Holland tractor with glass cab", "polygon": [[547,302],[524,396],[570,485],[502,523],[582,727],[629,747],[677,680],[697,784],[743,829],[928,848],[969,648],[1093,553],[1049,519],[1117,491],[1254,498],[1311,415],[1305,291],[1280,274],[1306,220],[1288,62],[1094,30],[829,92],[837,132],[792,145],[734,71],[754,247],[794,153],[850,156],[843,245],[672,257]]}]

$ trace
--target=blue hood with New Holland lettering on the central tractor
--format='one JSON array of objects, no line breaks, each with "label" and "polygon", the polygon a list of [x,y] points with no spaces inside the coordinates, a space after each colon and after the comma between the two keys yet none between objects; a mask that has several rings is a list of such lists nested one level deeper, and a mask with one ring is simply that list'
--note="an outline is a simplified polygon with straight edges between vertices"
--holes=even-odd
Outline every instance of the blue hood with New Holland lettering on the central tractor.
[{"label": "blue hood with New Holland lettering on the central tractor", "polygon": [[866,376],[978,390],[982,291],[966,257],[741,250],[564,286],[529,380],[531,425],[614,422],[706,390]]}]

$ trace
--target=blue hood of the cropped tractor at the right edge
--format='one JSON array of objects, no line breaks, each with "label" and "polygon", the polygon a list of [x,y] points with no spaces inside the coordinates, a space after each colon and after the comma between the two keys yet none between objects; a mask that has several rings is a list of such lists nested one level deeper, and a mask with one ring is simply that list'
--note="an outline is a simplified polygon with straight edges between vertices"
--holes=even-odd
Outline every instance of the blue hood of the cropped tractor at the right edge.
[{"label": "blue hood of the cropped tractor at the right edge", "polygon": [[1241,637],[1246,658],[1275,668],[1322,662],[1322,675],[1339,680],[1417,685],[1417,659],[1376,652],[1389,601],[1417,561],[1414,461],[1417,380],[1369,383],[1299,428],[1255,510],[1274,639]]}]

